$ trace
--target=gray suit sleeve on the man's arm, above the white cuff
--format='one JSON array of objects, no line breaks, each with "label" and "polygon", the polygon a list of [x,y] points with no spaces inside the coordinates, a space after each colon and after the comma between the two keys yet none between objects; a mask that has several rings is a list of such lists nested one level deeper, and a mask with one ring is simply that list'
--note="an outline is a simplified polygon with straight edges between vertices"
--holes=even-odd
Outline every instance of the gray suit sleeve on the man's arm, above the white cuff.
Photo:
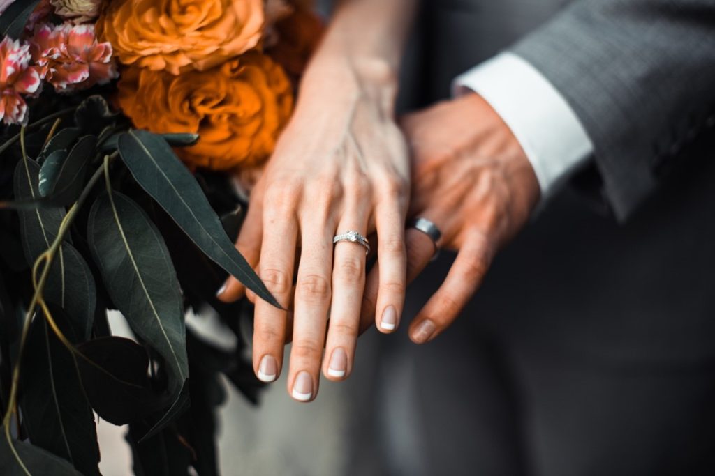
[{"label": "gray suit sleeve on the man's arm, above the white cuff", "polygon": [[573,108],[621,220],[715,123],[715,0],[574,1],[511,51]]}]

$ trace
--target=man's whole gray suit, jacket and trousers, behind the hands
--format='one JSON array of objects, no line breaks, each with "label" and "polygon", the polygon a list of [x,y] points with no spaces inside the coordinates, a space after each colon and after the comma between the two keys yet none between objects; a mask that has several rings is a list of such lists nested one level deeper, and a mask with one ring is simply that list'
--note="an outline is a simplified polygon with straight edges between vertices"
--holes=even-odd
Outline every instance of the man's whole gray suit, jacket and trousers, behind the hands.
[{"label": "man's whole gray suit, jacket and trousers, behind the hands", "polygon": [[[715,474],[715,2],[435,0],[423,13],[405,106],[512,49],[596,153],[450,330],[419,348],[385,338],[386,474]],[[410,289],[403,332],[452,258]]]}]

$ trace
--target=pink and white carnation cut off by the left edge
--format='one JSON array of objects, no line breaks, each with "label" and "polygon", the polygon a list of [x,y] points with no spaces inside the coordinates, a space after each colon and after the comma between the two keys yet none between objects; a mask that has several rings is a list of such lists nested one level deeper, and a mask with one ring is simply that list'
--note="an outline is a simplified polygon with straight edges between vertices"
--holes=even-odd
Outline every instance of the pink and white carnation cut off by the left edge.
[{"label": "pink and white carnation cut off by the left edge", "polygon": [[30,64],[30,46],[9,38],[0,42],[0,118],[6,124],[26,123],[22,94],[39,91],[41,71]]}]

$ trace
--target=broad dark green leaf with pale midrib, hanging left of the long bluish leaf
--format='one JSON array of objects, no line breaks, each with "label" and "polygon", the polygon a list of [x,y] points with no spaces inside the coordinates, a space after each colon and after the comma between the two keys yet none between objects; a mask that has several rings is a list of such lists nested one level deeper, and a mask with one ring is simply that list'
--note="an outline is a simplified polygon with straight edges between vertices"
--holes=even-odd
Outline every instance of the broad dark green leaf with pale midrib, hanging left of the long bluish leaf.
[{"label": "broad dark green leaf with pale midrib, hanging left of the long bluish leaf", "polygon": [[129,325],[166,360],[177,395],[189,375],[182,296],[164,239],[122,193],[102,193],[89,212],[87,238],[104,285]]}]

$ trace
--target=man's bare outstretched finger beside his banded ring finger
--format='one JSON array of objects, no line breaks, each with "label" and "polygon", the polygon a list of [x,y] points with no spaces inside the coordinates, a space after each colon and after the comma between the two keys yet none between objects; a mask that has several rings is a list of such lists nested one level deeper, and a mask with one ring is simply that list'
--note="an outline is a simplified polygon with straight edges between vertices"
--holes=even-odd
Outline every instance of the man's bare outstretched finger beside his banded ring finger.
[{"label": "man's bare outstretched finger beside his banded ring finger", "polygon": [[444,283],[410,325],[414,343],[433,340],[455,321],[481,285],[491,263],[492,248],[483,233],[472,233],[465,240]]}]

